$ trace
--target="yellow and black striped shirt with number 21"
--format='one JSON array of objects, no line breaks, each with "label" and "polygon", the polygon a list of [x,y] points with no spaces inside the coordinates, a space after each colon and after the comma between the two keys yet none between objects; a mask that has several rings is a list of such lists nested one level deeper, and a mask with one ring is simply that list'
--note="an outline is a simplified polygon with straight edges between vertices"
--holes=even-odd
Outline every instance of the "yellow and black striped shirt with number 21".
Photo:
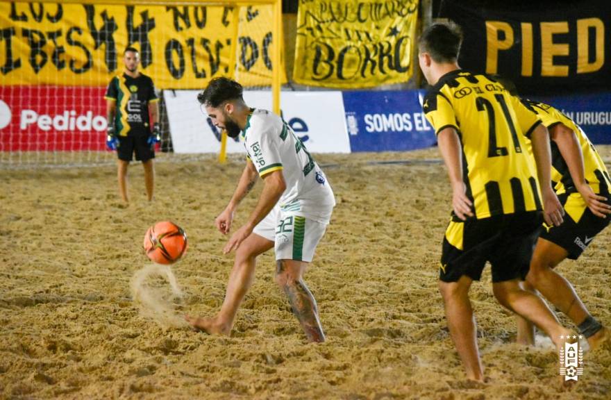
[{"label": "yellow and black striped shirt with number 21", "polygon": [[542,209],[525,138],[541,121],[501,83],[457,69],[431,88],[423,109],[435,133],[449,126],[458,132],[463,179],[477,219]]}]

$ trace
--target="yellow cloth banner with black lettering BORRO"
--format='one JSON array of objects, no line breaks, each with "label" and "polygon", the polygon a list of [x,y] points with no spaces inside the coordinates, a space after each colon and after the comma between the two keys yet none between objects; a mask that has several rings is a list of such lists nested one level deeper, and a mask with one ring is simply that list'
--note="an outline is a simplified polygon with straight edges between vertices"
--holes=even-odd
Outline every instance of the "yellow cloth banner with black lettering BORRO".
[{"label": "yellow cloth banner with black lettering BORRO", "polygon": [[407,82],[418,0],[301,0],[293,79],[357,89]]}]

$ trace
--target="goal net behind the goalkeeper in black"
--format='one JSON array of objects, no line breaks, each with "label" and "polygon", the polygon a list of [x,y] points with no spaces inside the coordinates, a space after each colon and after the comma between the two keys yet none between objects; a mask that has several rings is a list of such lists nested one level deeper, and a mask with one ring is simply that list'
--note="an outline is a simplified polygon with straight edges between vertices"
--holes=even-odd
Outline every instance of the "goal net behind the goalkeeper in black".
[{"label": "goal net behind the goalkeeper in black", "polygon": [[[185,124],[213,137],[196,152],[219,151],[194,93],[231,76],[267,91],[277,109],[279,12],[277,0],[1,2],[0,167],[114,163],[104,94],[124,72],[126,47],[140,52],[139,70],[160,97],[158,157],[175,159],[174,142],[194,149]],[[183,103],[168,107],[170,97]]]}]

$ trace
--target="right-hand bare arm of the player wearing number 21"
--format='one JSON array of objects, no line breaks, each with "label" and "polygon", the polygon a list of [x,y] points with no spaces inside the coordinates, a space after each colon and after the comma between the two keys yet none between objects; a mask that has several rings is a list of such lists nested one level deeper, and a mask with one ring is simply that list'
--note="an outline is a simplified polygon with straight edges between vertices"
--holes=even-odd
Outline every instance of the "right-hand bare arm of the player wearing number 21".
[{"label": "right-hand bare arm of the player wearing number 21", "polygon": [[543,124],[537,125],[530,140],[533,142],[533,156],[537,163],[539,188],[543,196],[543,217],[549,226],[558,226],[562,224],[564,208],[551,187],[551,149],[547,128]]}]

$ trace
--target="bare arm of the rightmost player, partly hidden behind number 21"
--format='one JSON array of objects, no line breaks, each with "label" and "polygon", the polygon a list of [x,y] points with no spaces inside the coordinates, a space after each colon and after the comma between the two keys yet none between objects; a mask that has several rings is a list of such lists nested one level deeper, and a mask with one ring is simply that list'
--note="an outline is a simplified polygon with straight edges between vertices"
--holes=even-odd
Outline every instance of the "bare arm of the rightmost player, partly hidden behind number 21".
[{"label": "bare arm of the rightmost player, partly hidden behind number 21", "polygon": [[611,206],[604,203],[607,199],[594,193],[594,190],[585,181],[583,153],[581,152],[575,132],[564,124],[556,124],[550,129],[549,135],[551,140],[558,145],[558,150],[560,150],[562,158],[564,158],[567,167],[569,167],[569,173],[571,178],[573,178],[575,187],[581,194],[581,197],[583,197],[587,207],[592,211],[592,214],[601,218],[611,214]]}]

